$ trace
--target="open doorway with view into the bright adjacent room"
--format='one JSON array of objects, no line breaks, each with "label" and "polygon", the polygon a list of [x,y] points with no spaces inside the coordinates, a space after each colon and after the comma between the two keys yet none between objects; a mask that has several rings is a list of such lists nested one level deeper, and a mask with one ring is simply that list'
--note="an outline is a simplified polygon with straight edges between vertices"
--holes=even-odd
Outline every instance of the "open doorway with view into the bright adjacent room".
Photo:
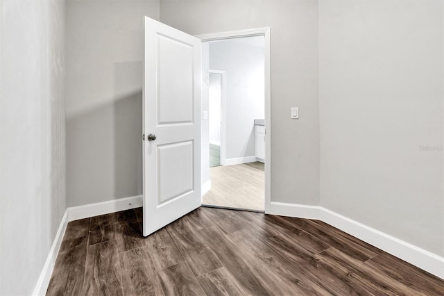
[{"label": "open doorway with view into the bright adjacent room", "polygon": [[265,37],[203,42],[203,58],[203,75],[205,69],[208,74],[203,83],[203,112],[208,110],[203,145],[208,146],[203,153],[207,148],[210,184],[203,204],[264,211]]}]

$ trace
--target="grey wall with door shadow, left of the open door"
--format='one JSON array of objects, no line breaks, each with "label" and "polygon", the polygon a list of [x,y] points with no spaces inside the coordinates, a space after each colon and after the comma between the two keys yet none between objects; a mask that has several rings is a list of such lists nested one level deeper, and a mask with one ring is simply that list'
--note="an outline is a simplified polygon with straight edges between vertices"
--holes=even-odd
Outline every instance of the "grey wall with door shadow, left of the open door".
[{"label": "grey wall with door shadow, left of the open door", "polygon": [[158,0],[67,1],[69,206],[142,194],[144,16]]}]

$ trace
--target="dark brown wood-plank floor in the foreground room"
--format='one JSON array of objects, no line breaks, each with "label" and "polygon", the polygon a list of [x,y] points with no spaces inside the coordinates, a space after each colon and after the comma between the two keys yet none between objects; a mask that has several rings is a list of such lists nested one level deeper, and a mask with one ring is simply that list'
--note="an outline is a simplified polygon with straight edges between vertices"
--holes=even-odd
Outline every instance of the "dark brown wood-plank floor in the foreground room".
[{"label": "dark brown wood-plank floor in the foreground room", "polygon": [[142,236],[142,208],[69,222],[47,295],[444,295],[444,281],[317,220],[219,208]]}]

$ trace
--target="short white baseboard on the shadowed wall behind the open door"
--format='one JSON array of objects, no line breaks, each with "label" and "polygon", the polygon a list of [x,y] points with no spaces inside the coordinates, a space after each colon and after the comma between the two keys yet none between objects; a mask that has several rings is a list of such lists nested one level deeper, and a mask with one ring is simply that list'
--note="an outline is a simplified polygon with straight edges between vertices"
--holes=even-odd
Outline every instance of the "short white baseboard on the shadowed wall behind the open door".
[{"label": "short white baseboard on the shadowed wall behind the open door", "polygon": [[98,202],[96,204],[85,204],[83,206],[72,206],[69,210],[69,221],[94,217],[119,211],[139,208],[142,206],[142,195],[135,197],[125,197],[113,199],[108,202]]}]

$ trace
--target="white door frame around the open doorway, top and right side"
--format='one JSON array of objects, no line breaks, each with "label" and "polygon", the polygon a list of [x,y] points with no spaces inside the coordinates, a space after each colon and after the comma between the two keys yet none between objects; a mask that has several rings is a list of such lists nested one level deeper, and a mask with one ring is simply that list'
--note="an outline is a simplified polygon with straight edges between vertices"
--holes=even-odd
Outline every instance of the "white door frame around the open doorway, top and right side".
[{"label": "white door frame around the open doorway, top and right side", "polygon": [[271,43],[270,28],[252,28],[240,31],[196,35],[202,42],[264,36],[265,38],[265,213],[271,206]]}]

